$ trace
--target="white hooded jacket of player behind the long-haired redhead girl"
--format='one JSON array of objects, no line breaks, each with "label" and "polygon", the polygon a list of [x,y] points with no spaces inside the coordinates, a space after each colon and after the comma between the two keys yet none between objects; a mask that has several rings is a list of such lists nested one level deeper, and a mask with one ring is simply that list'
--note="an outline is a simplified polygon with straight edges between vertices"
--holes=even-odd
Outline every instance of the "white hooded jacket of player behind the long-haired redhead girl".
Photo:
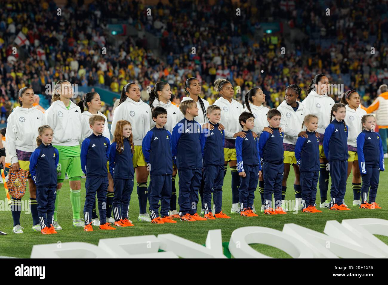
[{"label": "white hooded jacket of player behind the long-haired redhead girl", "polygon": [[126,120],[131,123],[133,144],[142,145],[144,136],[151,130],[151,107],[145,104],[142,99],[139,99],[139,102],[135,102],[127,97],[114,110],[111,133],[114,134],[116,124],[120,120]]}]

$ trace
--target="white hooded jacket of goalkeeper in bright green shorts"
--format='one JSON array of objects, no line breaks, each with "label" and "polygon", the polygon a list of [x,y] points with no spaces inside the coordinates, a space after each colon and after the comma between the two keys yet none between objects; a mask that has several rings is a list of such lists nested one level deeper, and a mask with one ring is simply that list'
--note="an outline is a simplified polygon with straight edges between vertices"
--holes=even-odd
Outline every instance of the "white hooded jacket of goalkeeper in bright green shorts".
[{"label": "white hooded jacket of goalkeeper in bright green shorts", "polygon": [[81,109],[70,101],[69,110],[61,100],[52,102],[45,112],[46,123],[53,129],[53,145],[77,146],[81,140]]}]

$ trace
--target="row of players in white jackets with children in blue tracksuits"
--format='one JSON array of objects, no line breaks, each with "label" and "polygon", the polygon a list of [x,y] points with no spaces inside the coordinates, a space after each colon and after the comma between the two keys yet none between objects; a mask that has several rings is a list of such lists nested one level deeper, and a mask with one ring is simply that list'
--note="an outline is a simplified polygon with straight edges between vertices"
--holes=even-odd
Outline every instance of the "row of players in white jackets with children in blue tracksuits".
[{"label": "row of players in white jackets with children in blue tracksuits", "polygon": [[[199,81],[187,79],[188,97],[183,98],[179,108],[171,104],[170,86],[165,82],[156,83],[149,105],[140,99],[140,87],[128,83],[114,110],[112,143],[106,117],[99,112],[101,101],[97,93],[87,93],[76,105],[70,100],[71,83],[61,80],[55,85],[51,106],[43,114],[32,107],[33,90],[24,87],[19,90],[21,107],[9,116],[6,139],[10,167],[30,173],[33,229],[45,234],[62,229],[56,209],[66,174],[73,226],[83,226],[85,231],[92,231],[93,225],[113,230],[111,223],[133,226],[128,209],[135,172],[140,221],[159,224],[176,223],[174,218],[230,218],[222,212],[222,185],[228,163],[232,174],[232,214],[257,216],[253,203],[257,185],[262,212],[286,214],[286,181],[291,165],[296,176],[296,209],[320,212],[315,207],[319,181],[321,208],[349,210],[343,200],[346,177],[350,174],[348,164],[356,179],[355,169],[359,169],[363,182],[362,186],[361,181],[352,183],[353,205],[378,209],[375,199],[384,159],[382,140],[374,132],[376,119],[360,109],[360,97],[355,90],[344,94],[345,104],[334,104],[326,94],[327,84],[326,76],[315,76],[303,103],[297,100],[301,89],[289,85],[286,100],[270,110],[262,105],[262,90],[252,88],[246,94],[244,110],[233,99],[233,86],[225,79],[215,81],[220,98],[211,106],[199,97]],[[87,179],[82,221],[80,178],[84,173]],[[329,173],[330,201],[326,197]],[[197,213],[198,194],[204,217]],[[96,195],[100,220],[95,211]],[[23,233],[21,197],[11,200],[13,231]],[[151,214],[146,211],[147,200]]]}]

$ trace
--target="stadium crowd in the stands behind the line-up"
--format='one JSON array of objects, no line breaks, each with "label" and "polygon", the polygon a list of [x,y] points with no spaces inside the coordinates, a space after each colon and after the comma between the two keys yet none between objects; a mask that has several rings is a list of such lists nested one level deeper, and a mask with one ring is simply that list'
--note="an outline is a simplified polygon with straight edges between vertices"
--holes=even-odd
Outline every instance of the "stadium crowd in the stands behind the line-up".
[{"label": "stadium crowd in the stands behind the line-up", "polygon": [[[371,1],[337,1],[328,6],[312,0],[258,0],[256,5],[247,1],[217,1],[215,5],[176,2],[156,6],[124,0],[98,0],[88,5],[69,2],[57,16],[54,1],[1,0],[5,7],[0,18],[2,123],[18,104],[20,88],[31,86],[36,94],[45,93],[46,84],[61,79],[116,93],[135,81],[147,102],[147,86],[166,81],[173,95],[182,98],[185,79],[194,76],[201,82],[201,96],[212,104],[218,95],[213,82],[226,78],[235,90],[241,86],[236,99],[242,104],[245,93],[260,86],[268,107],[277,107],[284,99],[285,87],[293,83],[302,88],[303,99],[308,83],[319,73],[328,75],[331,83],[344,84],[344,90],[356,89],[365,106],[373,102],[378,86],[388,82],[386,2],[378,7]],[[151,16],[147,8],[151,8]],[[238,8],[241,16],[236,16]],[[106,34],[113,18],[157,36],[165,57],[157,58],[145,38],[128,37],[114,48]],[[283,33],[263,33],[257,40],[255,35],[262,31],[260,22],[264,20],[287,23],[309,37],[281,54]],[[26,60],[13,53],[19,32],[29,41],[21,47]],[[107,47],[106,54],[101,53],[102,47]]]}]

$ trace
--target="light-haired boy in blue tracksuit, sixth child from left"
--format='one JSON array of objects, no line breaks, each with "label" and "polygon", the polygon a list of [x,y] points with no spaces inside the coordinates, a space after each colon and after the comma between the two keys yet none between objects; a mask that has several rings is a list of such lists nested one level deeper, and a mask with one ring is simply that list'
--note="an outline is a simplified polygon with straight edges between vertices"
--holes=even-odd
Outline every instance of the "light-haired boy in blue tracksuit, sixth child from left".
[{"label": "light-haired boy in blue tracksuit, sixth child from left", "polygon": [[[205,147],[203,150],[203,201],[202,208],[205,209],[206,219],[225,218],[230,219],[224,214],[222,208],[222,185],[224,173],[223,145],[225,143],[225,132],[218,130],[218,124],[221,119],[221,109],[217,105],[210,105],[206,109],[206,116],[209,123],[214,126],[213,130],[207,130],[205,135]],[[215,205],[215,213],[211,212],[211,193]]]}]

